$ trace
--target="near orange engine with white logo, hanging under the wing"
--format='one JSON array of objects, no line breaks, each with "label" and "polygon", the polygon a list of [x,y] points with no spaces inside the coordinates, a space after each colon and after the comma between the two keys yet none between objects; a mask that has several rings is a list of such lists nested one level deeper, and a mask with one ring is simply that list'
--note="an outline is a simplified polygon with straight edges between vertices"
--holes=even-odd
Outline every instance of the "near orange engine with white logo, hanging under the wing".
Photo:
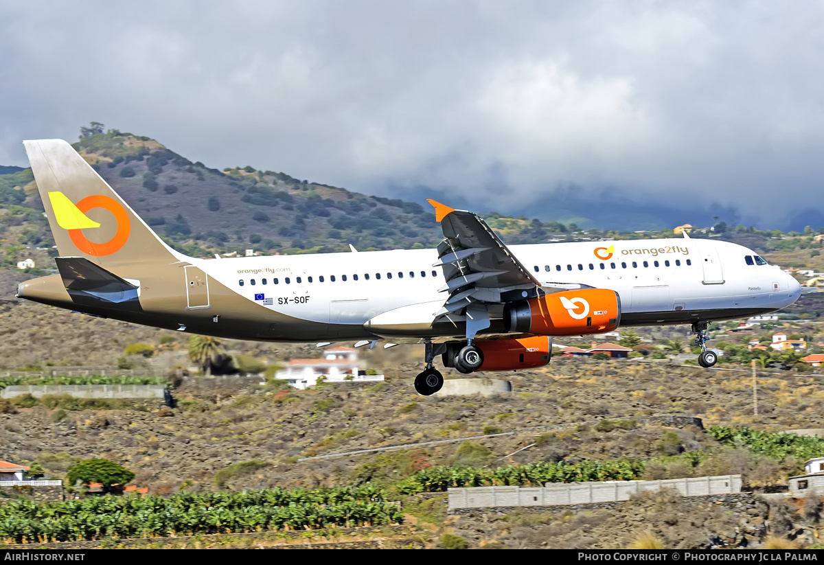
[{"label": "near orange engine with white logo, hanging under the wing", "polygon": [[507,331],[539,335],[602,334],[620,324],[620,297],[606,288],[553,292],[509,304]]}]

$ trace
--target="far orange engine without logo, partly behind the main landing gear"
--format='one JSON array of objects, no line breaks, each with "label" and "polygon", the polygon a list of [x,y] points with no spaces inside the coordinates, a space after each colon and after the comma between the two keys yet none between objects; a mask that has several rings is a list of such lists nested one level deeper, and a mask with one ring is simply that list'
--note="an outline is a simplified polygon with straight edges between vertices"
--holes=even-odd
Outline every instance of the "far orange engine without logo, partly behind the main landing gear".
[{"label": "far orange engine without logo, partly behind the main landing gear", "polygon": [[[476,371],[534,369],[544,367],[552,357],[552,338],[545,335],[519,339],[476,339],[472,343],[484,356],[484,362]],[[465,345],[466,342],[447,343],[447,351],[441,356],[444,367],[455,367],[455,356]]]}]

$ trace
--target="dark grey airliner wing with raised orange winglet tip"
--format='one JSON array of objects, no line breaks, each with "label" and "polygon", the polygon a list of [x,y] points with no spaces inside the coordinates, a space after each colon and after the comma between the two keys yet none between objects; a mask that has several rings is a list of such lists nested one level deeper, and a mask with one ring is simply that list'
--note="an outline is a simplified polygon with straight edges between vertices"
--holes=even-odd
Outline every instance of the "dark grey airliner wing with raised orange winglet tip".
[{"label": "dark grey airliner wing with raised orange winglet tip", "polygon": [[471,339],[475,334],[471,326],[478,331],[489,327],[488,305],[535,296],[541,283],[477,214],[428,202],[435,207],[445,238],[433,266],[443,268],[447,283],[439,290],[449,293],[435,313],[436,321],[466,315]]}]

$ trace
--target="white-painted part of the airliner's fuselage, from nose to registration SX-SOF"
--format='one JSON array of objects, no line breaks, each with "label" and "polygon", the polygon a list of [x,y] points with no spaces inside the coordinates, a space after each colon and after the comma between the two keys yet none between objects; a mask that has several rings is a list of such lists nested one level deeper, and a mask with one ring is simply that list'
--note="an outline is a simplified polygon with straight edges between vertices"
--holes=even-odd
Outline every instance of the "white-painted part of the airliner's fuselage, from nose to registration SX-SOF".
[{"label": "white-painted part of the airliner's fuselage, from nose to registration SX-SOF", "polygon": [[[610,246],[614,250],[608,254]],[[620,240],[509,249],[547,287],[581,284],[618,292],[625,325],[685,323],[698,319],[698,312],[701,320],[734,319],[779,310],[800,294],[798,282],[780,268],[748,264],[747,256],[756,253],[724,241]],[[444,280],[441,268],[432,266],[437,261],[435,250],[392,250],[196,264],[272,311],[322,324],[363,325],[387,311],[442,304],[447,293],[438,292]]]}]

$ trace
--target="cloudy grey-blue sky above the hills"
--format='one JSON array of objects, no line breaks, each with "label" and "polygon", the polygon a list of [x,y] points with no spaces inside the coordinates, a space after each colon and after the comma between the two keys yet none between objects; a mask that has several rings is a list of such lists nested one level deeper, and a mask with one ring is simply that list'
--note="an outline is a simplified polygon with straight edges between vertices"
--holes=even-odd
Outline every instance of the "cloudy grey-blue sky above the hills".
[{"label": "cloudy grey-blue sky above the hills", "polygon": [[822,29],[822,1],[3,2],[0,165],[96,120],[368,193],[770,224],[824,194]]}]

